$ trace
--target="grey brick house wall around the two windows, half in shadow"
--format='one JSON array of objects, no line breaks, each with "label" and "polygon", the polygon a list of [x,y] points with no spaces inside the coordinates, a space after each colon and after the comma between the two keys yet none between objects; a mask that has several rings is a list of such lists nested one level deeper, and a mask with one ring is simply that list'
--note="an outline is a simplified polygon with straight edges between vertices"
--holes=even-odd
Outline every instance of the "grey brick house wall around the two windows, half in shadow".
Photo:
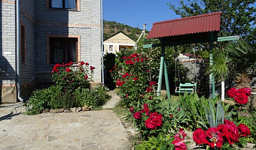
[{"label": "grey brick house wall around the two windows, half in shadow", "polygon": [[78,10],[50,8],[47,2],[35,2],[36,71],[51,71],[53,68],[47,64],[47,36],[74,35],[80,37],[78,59],[95,67],[93,80],[101,81],[100,1],[78,0]]}]

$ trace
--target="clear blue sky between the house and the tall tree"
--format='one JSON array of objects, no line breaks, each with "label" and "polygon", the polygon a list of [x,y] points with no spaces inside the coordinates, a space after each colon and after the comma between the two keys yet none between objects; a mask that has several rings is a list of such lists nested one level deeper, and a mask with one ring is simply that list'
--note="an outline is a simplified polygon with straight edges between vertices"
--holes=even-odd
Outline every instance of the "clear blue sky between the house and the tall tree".
[{"label": "clear blue sky between the house and the tall tree", "polygon": [[153,23],[180,18],[169,9],[170,2],[177,0],[103,0],[103,20],[115,21],[124,25],[150,31]]}]

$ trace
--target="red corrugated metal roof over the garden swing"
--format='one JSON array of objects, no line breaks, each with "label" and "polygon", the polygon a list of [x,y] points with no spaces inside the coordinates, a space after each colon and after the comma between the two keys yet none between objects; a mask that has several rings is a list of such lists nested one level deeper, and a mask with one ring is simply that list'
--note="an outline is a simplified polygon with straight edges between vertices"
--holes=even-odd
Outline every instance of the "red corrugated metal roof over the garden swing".
[{"label": "red corrugated metal roof over the garden swing", "polygon": [[220,31],[220,24],[221,12],[166,20],[154,23],[147,39]]}]

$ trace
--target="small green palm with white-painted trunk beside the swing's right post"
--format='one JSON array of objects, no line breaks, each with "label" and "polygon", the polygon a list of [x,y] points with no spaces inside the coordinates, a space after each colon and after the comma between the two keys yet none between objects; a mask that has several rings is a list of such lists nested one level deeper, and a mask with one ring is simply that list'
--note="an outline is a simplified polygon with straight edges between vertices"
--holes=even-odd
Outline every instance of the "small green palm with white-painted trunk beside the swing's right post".
[{"label": "small green palm with white-painted trunk beside the swing's right post", "polygon": [[213,49],[212,55],[212,65],[209,65],[209,68],[207,68],[207,73],[214,74],[217,80],[221,80],[221,101],[224,101],[224,82],[231,74],[232,58],[222,49]]}]

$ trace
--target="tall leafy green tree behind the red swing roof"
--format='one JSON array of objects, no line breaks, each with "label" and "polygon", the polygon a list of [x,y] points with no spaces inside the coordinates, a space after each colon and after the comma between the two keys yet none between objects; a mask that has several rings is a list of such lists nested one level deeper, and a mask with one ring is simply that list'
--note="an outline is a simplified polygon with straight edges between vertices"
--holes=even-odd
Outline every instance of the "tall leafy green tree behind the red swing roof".
[{"label": "tall leafy green tree behind the red swing roof", "polygon": [[219,36],[239,35],[248,43],[256,43],[256,0],[181,0],[178,6],[169,3],[170,9],[181,17],[221,11]]}]

